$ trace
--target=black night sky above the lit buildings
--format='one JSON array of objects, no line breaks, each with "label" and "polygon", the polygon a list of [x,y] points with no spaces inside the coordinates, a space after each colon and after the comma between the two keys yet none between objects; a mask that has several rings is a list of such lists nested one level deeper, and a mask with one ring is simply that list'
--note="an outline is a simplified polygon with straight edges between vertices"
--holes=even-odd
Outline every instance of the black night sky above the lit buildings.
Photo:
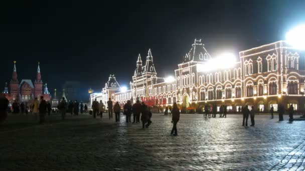
[{"label": "black night sky above the lit buildings", "polygon": [[[19,80],[49,88],[79,80],[100,89],[110,73],[128,85],[148,48],[159,76],[174,74],[195,38],[213,56],[284,39],[305,22],[305,0],[87,0],[1,2],[1,89],[17,60]],[[86,89],[85,89],[86,90]]]}]

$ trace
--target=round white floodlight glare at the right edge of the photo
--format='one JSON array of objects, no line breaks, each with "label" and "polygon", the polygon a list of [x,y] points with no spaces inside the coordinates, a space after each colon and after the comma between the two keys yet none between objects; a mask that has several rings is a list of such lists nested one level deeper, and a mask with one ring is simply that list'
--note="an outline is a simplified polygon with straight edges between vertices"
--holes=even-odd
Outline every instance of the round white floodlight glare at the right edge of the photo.
[{"label": "round white floodlight glare at the right edge of the photo", "polygon": [[294,48],[305,50],[305,24],[298,25],[288,31],[286,40]]}]

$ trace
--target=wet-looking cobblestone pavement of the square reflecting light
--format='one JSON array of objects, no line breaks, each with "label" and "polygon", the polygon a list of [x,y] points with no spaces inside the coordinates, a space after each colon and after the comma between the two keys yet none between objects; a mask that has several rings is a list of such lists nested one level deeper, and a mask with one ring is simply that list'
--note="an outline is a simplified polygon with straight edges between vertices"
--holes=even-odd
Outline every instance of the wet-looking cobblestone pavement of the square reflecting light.
[{"label": "wet-looking cobblestone pavement of the square reflecting light", "polygon": [[171,117],[160,114],[144,130],[106,113],[55,115],[43,125],[10,115],[0,127],[0,170],[304,170],[304,121],[255,117],[244,127],[241,115],[182,114],[170,136]]}]

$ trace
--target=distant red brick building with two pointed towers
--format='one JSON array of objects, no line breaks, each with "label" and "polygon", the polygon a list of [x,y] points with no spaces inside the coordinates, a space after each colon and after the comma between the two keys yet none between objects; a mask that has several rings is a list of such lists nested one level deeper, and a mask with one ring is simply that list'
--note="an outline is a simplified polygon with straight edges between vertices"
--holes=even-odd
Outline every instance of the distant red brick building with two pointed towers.
[{"label": "distant red brick building with two pointed towers", "polygon": [[19,102],[30,102],[35,97],[40,99],[40,96],[44,96],[44,99],[47,101],[51,99],[47,84],[45,84],[43,91],[43,81],[41,79],[39,63],[37,67],[36,80],[33,84],[31,79],[22,79],[19,82],[17,77],[16,61],[14,61],[13,75],[10,82],[10,91],[8,84],[6,83],[4,94],[10,100],[10,102],[13,102],[14,100]]}]

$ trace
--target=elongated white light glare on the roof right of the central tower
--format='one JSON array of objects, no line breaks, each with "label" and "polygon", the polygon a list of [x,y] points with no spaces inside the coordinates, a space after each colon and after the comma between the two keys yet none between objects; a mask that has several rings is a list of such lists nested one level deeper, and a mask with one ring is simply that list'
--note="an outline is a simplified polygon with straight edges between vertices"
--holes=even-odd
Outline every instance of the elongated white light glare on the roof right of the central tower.
[{"label": "elongated white light glare on the roof right of the central tower", "polygon": [[233,53],[222,53],[205,64],[200,64],[199,71],[232,68],[236,64],[236,57]]}]

